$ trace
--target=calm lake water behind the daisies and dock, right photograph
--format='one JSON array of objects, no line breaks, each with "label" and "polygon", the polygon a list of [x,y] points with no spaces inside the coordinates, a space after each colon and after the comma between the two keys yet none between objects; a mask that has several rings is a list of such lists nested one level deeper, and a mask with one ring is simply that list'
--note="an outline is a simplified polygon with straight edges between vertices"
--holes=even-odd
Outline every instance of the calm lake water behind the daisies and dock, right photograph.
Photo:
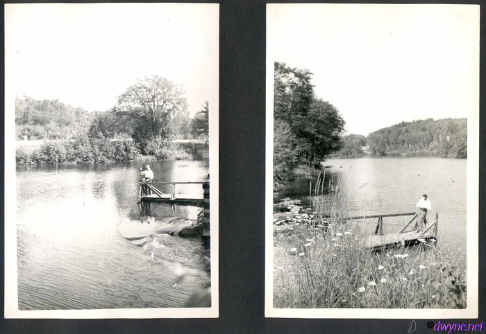
[{"label": "calm lake water behind the daisies and dock, right photograph", "polygon": [[[439,248],[466,255],[466,159],[330,159],[324,165],[327,187],[329,180],[337,186],[340,179],[349,216],[412,212],[426,193],[432,202],[428,221],[439,213]],[[295,179],[278,197],[299,198],[308,204],[309,181],[314,183],[318,173]],[[399,231],[411,218],[383,218],[384,232]],[[377,219],[368,221],[360,224],[374,231]]]}]

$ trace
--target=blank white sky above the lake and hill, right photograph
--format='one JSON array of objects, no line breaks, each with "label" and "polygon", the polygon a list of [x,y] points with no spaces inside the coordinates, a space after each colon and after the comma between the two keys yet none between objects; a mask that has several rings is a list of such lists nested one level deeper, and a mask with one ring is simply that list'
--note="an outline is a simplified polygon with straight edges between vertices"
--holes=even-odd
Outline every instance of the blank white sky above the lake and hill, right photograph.
[{"label": "blank white sky above the lake and hill, right photograph", "polygon": [[479,6],[272,4],[267,52],[312,71],[348,133],[478,109]]}]

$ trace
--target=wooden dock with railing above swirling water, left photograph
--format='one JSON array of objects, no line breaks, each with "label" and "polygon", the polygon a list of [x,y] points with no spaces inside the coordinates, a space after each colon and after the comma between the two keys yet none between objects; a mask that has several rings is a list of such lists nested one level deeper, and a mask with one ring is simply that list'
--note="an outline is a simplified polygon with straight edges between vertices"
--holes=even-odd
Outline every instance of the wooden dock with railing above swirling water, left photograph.
[{"label": "wooden dock with railing above swirling water, left photograph", "polygon": [[[181,184],[201,184],[199,193],[184,194],[176,191],[177,186]],[[164,193],[156,186],[169,185],[171,191]],[[140,182],[138,198],[140,200],[169,202],[173,204],[201,204],[204,201],[204,189],[209,188],[209,182]]]}]

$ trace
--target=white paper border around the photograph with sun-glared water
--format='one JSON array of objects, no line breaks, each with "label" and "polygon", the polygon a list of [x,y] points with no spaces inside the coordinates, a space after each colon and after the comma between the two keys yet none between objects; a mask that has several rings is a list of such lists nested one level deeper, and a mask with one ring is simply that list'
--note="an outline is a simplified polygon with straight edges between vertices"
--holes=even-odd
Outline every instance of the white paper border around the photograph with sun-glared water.
[{"label": "white paper border around the photograph with sun-glared water", "polygon": [[[128,3],[121,3],[124,6]],[[38,4],[37,4],[38,5]],[[56,6],[48,3],[49,6]],[[66,5],[65,3],[62,5]],[[73,3],[69,6],[117,6],[117,3]],[[131,3],[144,6],[149,3]],[[16,172],[15,172],[15,91],[8,82],[15,80],[15,73],[8,68],[5,58],[5,290],[4,317],[25,319],[153,319],[153,318],[217,318],[219,317],[219,4],[218,3],[165,3],[171,6],[205,6],[214,12],[215,39],[215,89],[212,89],[209,112],[209,171],[210,171],[210,281],[211,306],[209,308],[112,308],[92,310],[19,310],[17,287],[17,229],[16,229]],[[4,5],[5,9],[16,4]],[[26,6],[26,5],[24,5]],[[28,5],[27,5],[28,6]],[[6,10],[7,12],[7,10]],[[8,14],[8,12],[7,12]],[[6,30],[6,45],[8,45]]]}]

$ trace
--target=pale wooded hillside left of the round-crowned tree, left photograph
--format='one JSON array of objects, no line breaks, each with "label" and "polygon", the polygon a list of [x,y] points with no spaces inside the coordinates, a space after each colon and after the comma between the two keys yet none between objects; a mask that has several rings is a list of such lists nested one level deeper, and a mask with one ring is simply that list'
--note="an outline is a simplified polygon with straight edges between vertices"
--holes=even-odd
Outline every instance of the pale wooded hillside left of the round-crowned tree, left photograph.
[{"label": "pale wooded hillside left of the round-crowned tree, left photograph", "polygon": [[59,100],[15,99],[17,139],[72,139],[86,134],[93,118],[94,113]]}]

